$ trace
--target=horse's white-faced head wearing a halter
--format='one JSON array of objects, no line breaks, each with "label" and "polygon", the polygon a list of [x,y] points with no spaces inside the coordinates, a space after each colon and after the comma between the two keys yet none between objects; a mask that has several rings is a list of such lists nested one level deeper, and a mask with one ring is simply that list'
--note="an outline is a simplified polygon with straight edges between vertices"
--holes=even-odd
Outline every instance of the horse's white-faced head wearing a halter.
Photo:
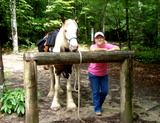
[{"label": "horse's white-faced head wearing a halter", "polygon": [[64,35],[69,45],[69,50],[74,52],[78,49],[77,30],[78,25],[75,20],[68,19],[64,22]]}]

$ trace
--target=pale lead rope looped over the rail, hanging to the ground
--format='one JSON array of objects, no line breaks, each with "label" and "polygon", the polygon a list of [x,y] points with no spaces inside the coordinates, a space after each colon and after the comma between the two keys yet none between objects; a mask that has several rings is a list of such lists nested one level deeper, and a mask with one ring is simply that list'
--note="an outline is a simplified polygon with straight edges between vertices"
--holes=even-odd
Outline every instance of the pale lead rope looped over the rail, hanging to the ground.
[{"label": "pale lead rope looped over the rail, hanging to the ground", "polygon": [[80,96],[80,73],[79,73],[79,71],[80,71],[80,65],[81,65],[81,63],[82,63],[82,53],[78,50],[78,52],[79,52],[79,57],[80,57],[80,63],[79,63],[79,66],[78,67],[76,67],[76,69],[77,69],[77,71],[78,71],[78,109],[77,109],[77,114],[78,114],[78,119],[82,122],[82,123],[85,123],[85,121],[84,120],[82,120],[82,118],[80,117],[80,98],[81,98],[81,96]]}]

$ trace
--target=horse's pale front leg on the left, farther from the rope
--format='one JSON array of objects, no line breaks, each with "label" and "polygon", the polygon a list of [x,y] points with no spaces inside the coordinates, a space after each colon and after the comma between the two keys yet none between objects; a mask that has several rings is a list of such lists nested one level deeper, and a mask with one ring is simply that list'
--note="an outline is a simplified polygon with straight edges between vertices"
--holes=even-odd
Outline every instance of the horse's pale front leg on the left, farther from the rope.
[{"label": "horse's pale front leg on the left, farther from the rope", "polygon": [[59,92],[59,85],[60,82],[60,75],[55,74],[55,88],[54,88],[54,97],[53,97],[53,101],[52,101],[52,105],[51,105],[51,109],[57,111],[60,109],[60,103],[59,103],[59,96],[58,96],[58,92]]}]

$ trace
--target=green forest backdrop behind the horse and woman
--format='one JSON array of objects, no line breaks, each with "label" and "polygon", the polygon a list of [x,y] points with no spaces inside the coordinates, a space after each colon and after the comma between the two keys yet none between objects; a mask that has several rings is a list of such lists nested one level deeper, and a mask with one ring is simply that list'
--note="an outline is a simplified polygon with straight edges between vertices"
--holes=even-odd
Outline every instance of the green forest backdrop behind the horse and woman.
[{"label": "green forest backdrop behind the horse and woman", "polygon": [[13,3],[19,50],[36,47],[39,39],[60,26],[61,18],[76,18],[80,44],[91,44],[91,31],[103,31],[107,41],[135,50],[135,58],[160,61],[159,0],[1,0],[3,51],[13,49]]}]

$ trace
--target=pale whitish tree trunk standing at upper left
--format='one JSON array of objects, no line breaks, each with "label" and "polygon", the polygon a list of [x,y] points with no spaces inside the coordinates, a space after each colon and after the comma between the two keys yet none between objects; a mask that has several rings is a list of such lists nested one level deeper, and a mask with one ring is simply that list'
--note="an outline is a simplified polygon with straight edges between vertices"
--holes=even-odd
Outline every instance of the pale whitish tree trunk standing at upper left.
[{"label": "pale whitish tree trunk standing at upper left", "polygon": [[18,53],[16,0],[10,0],[10,11],[11,11],[11,30],[12,30],[12,41],[13,41],[13,53]]}]

